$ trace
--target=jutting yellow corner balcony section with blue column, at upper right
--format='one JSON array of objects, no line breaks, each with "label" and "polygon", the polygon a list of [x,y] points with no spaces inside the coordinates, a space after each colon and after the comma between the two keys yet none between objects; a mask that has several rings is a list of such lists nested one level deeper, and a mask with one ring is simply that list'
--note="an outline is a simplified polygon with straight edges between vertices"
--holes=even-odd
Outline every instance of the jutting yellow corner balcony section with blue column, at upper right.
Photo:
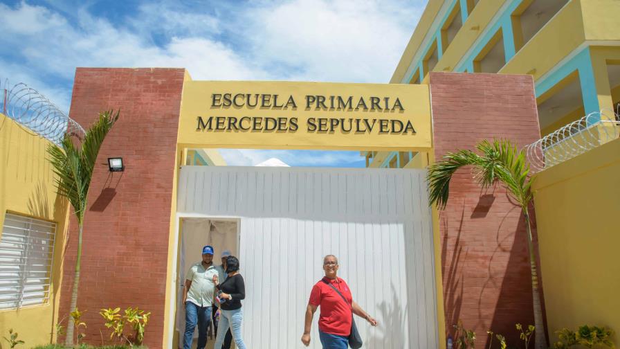
[{"label": "jutting yellow corner balcony section with blue column, at upper right", "polygon": [[543,136],[620,101],[617,13],[619,1],[569,1],[500,69],[534,77]]}]

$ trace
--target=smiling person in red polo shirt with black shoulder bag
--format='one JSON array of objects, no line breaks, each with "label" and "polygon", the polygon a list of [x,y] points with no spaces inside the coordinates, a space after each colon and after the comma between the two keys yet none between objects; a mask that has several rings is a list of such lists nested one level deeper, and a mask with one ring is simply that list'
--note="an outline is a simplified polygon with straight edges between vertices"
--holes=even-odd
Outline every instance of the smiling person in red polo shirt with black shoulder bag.
[{"label": "smiling person in red polo shirt with black shoulder bag", "polygon": [[[353,319],[352,312],[368,321],[370,325],[376,326],[376,320],[353,301],[351,290],[345,280],[336,276],[338,272],[336,256],[328,255],[323,258],[323,271],[325,271],[325,277],[316,283],[310,292],[302,343],[304,346],[310,345],[312,318],[316,308],[320,306],[318,333],[323,349],[347,349],[349,345],[347,337],[351,333]],[[332,286],[347,299],[346,303]]]}]

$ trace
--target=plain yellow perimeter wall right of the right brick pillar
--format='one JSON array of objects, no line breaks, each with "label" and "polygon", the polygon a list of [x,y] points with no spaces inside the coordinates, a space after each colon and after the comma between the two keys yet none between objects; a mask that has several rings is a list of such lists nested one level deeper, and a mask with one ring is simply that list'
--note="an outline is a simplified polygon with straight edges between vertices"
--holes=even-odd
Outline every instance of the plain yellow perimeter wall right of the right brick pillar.
[{"label": "plain yellow perimeter wall right of the right brick pillar", "polygon": [[556,330],[584,324],[620,332],[619,178],[620,138],[538,176],[534,202],[552,340]]}]

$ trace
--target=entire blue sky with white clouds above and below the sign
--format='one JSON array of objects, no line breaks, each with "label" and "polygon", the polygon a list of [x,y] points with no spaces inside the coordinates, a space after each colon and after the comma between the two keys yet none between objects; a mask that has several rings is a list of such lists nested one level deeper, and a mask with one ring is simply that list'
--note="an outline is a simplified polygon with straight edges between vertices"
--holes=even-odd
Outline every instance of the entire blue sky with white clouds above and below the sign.
[{"label": "entire blue sky with white clouds above and below the sign", "polygon": [[[388,82],[426,0],[1,1],[0,78],[69,111],[77,66],[194,80]],[[359,152],[222,150],[231,165],[363,167]]]}]

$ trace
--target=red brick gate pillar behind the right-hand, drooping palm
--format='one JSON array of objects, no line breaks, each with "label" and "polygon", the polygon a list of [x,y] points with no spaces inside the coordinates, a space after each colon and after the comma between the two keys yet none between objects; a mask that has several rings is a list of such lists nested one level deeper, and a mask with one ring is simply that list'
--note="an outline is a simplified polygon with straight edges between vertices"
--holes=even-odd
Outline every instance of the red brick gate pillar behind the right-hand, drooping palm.
[{"label": "red brick gate pillar behind the right-hand, drooping palm", "polygon": [[[540,137],[529,75],[430,73],[430,94],[436,159],[483,139],[509,138],[522,147]],[[534,324],[520,208],[502,186],[482,191],[462,169],[450,183],[439,229],[448,333],[462,319],[477,346],[489,329],[517,345],[515,323]]]}]

